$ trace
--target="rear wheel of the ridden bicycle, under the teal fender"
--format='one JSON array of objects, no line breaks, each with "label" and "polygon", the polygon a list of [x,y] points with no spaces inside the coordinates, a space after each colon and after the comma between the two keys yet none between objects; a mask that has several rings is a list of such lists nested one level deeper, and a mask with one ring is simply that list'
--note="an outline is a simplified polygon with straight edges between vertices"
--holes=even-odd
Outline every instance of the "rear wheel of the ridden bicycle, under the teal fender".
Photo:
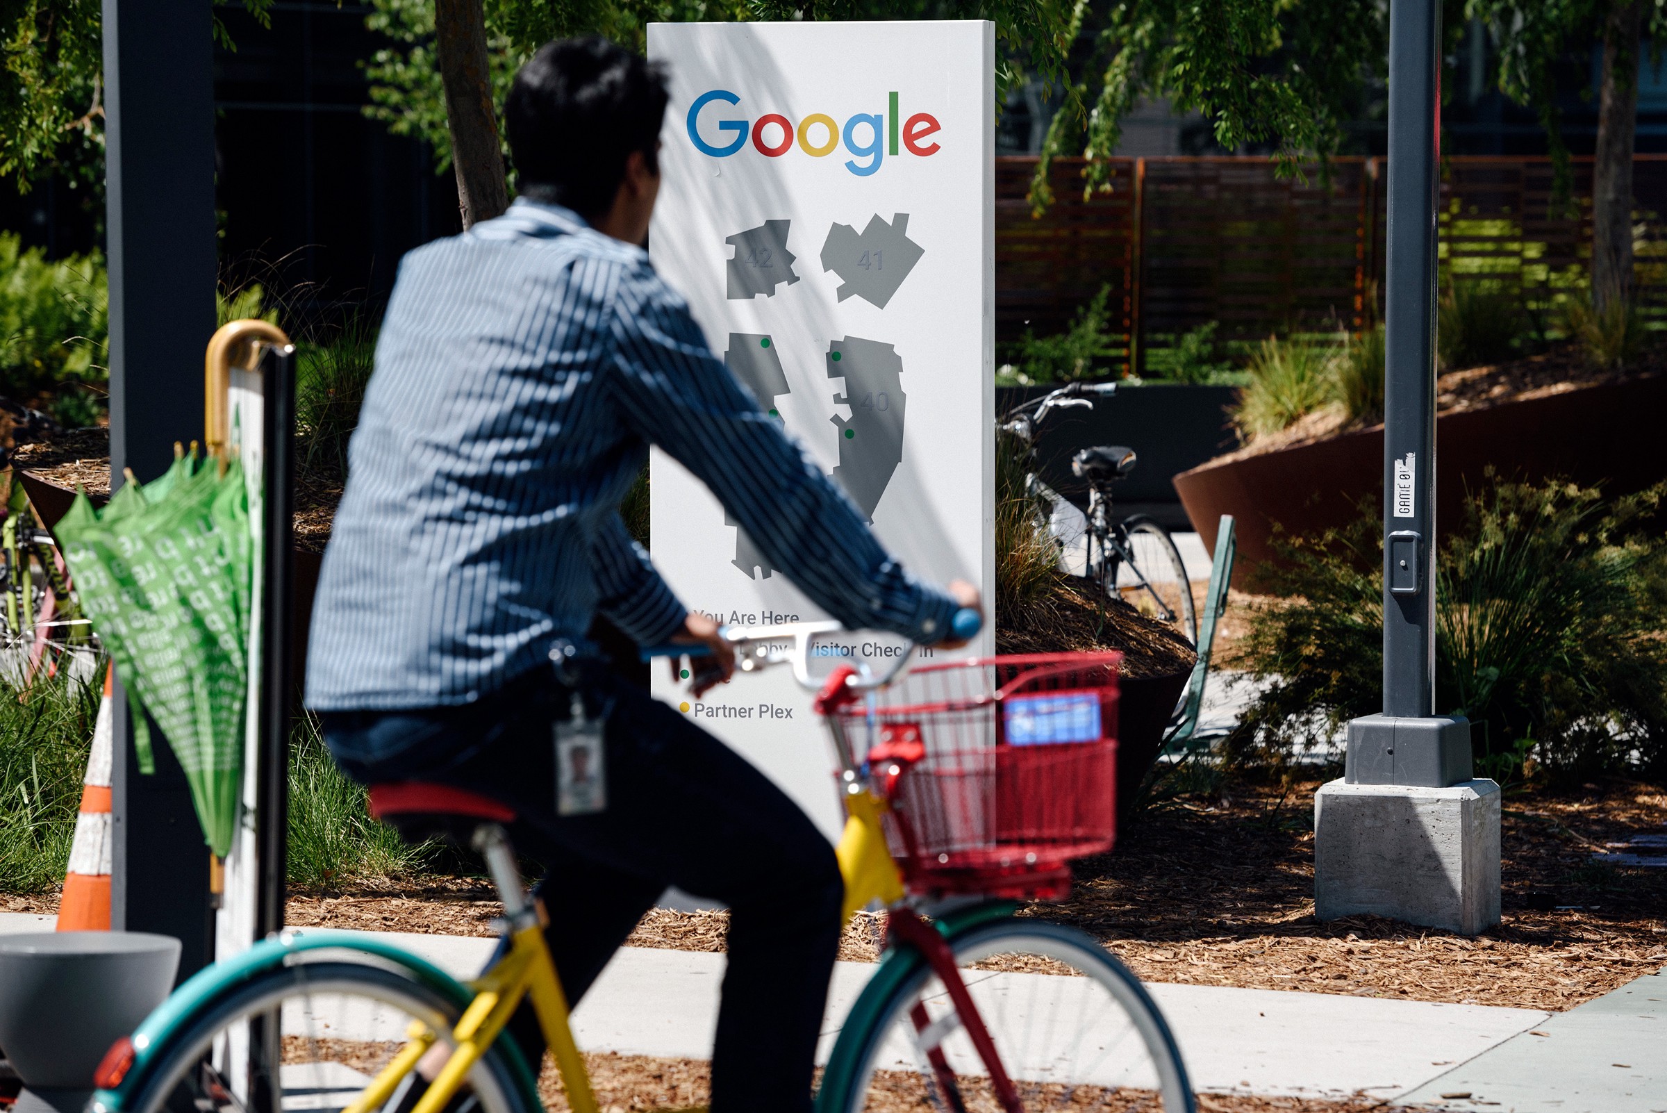
[{"label": "rear wheel of the ridden bicycle, under the teal fender", "polygon": [[[298,961],[173,1028],[170,1046],[120,1113],[338,1113],[413,1033],[450,1045],[457,1016],[455,1005],[393,965]],[[272,1058],[275,1086],[265,1066]],[[398,1108],[412,1085],[422,1080],[407,1075],[383,1108]],[[540,1113],[528,1088],[525,1065],[500,1040],[447,1110]]]}]

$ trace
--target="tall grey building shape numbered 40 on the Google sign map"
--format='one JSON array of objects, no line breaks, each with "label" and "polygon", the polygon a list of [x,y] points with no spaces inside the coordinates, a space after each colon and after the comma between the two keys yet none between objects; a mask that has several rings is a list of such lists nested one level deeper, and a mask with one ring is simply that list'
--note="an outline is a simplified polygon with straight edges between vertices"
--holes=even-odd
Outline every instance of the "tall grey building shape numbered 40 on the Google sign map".
[{"label": "tall grey building shape numbered 40 on the Google sign map", "polygon": [[864,517],[874,508],[904,462],[904,360],[889,343],[845,337],[828,345],[828,378],[844,378],[834,402],[850,407],[850,418],[834,415],[839,428],[839,467],[834,478]]}]

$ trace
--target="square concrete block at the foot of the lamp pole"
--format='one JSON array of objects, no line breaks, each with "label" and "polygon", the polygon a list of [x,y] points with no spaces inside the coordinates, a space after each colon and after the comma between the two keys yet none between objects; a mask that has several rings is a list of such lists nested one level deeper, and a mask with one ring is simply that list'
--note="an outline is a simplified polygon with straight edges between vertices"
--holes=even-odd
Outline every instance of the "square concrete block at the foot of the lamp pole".
[{"label": "square concrete block at the foot of the lamp pole", "polygon": [[1314,795],[1314,911],[1462,935],[1499,923],[1499,785],[1322,785]]}]

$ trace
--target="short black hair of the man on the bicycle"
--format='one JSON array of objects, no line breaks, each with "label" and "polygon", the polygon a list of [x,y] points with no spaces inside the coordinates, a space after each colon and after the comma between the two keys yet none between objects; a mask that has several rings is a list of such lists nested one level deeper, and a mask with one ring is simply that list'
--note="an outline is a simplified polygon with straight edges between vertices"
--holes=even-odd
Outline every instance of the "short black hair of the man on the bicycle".
[{"label": "short black hair of the man on the bicycle", "polygon": [[625,160],[660,172],[665,72],[602,35],[545,43],[515,75],[503,105],[517,188],[593,220],[608,212]]}]

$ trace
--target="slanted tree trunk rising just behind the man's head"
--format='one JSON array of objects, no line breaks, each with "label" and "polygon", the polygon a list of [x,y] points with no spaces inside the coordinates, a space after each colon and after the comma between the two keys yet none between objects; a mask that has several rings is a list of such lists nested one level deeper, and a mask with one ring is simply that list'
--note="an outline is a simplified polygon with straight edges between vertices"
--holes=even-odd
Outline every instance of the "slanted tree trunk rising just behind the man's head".
[{"label": "slanted tree trunk rising just behind the man's head", "polygon": [[[452,133],[457,207],[463,215],[463,228],[468,228],[480,220],[492,220],[510,205],[503,182],[503,152],[498,147],[498,115],[492,107],[483,0],[435,0],[433,38],[440,82],[445,85],[445,127]],[[1627,182],[1630,190],[1630,178]]]}]

